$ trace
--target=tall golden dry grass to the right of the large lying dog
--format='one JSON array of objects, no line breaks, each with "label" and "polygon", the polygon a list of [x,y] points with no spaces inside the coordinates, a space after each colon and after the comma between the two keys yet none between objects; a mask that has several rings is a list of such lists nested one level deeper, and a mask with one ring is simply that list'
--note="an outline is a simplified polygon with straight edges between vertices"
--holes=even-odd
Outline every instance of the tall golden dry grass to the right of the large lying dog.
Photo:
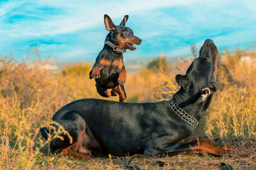
[{"label": "tall golden dry grass to the right of the large lying dog", "polygon": [[218,93],[210,106],[206,132],[210,136],[256,137],[256,65],[255,52],[228,51],[222,55],[218,69]]}]

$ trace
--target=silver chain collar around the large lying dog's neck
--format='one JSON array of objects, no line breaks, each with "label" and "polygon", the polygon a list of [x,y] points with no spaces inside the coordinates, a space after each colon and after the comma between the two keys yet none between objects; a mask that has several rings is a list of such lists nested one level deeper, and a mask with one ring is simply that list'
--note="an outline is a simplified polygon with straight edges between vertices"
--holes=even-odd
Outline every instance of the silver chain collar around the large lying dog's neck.
[{"label": "silver chain collar around the large lying dog's neck", "polygon": [[188,113],[186,113],[186,111],[183,111],[174,101],[174,98],[170,98],[169,101],[167,101],[168,105],[170,106],[171,110],[174,111],[174,113],[176,115],[178,115],[178,117],[180,117],[182,120],[184,120],[186,123],[188,123],[191,126],[196,127],[196,125],[198,125],[198,120],[196,120],[196,118],[194,118],[191,115],[188,115]]}]

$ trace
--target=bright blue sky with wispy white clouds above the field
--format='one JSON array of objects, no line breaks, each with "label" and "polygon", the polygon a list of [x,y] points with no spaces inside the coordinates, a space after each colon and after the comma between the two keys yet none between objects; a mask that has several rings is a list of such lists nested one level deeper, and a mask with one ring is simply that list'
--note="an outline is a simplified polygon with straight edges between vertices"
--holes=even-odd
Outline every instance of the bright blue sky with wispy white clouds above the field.
[{"label": "bright blue sky with wispy white clouds above the field", "polygon": [[[1,1],[0,55],[12,53],[18,62],[31,55],[63,62],[95,61],[107,30],[107,13],[119,24],[129,15],[127,27],[142,38],[126,59],[192,55],[207,38],[218,50],[255,50],[256,1]],[[36,57],[36,55],[32,55]]]}]

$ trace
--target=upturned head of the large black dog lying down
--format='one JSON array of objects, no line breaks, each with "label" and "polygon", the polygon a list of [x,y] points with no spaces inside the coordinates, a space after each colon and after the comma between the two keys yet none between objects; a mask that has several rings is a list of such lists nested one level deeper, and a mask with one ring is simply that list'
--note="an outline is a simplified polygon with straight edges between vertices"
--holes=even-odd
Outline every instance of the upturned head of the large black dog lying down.
[{"label": "upturned head of the large black dog lying down", "polygon": [[188,67],[185,75],[176,75],[181,91],[193,96],[195,103],[206,101],[216,91],[215,81],[218,65],[218,50],[213,40],[206,40],[199,57]]}]

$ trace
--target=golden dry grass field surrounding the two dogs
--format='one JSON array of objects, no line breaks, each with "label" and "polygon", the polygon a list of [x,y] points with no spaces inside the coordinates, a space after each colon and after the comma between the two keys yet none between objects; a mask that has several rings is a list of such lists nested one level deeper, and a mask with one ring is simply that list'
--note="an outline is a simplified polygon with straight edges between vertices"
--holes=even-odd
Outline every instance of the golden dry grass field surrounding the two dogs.
[{"label": "golden dry grass field surrounding the two dogs", "polygon": [[[227,162],[235,169],[255,169],[256,162],[256,66],[244,60],[256,58],[256,52],[229,52],[221,55],[218,67],[218,93],[196,135],[222,137],[225,145],[238,148],[230,157],[208,154],[136,159],[142,169],[220,169]],[[243,62],[242,62],[243,61]],[[28,64],[29,63],[29,64]],[[169,99],[178,89],[176,74],[184,74],[191,63],[180,58],[168,68],[147,69],[127,75],[127,102]],[[87,63],[67,65],[60,71],[46,70],[48,61],[34,60],[18,64],[11,57],[0,59],[0,167],[1,169],[127,169],[128,157],[96,157],[95,161],[68,159],[48,153],[38,128],[50,123],[55,111],[79,98],[102,98],[95,81],[88,79]],[[161,63],[160,63],[161,64]],[[106,98],[105,98],[106,99]],[[107,98],[118,101],[118,97]],[[41,149],[43,148],[43,149]],[[41,150],[39,150],[41,149]]]}]

